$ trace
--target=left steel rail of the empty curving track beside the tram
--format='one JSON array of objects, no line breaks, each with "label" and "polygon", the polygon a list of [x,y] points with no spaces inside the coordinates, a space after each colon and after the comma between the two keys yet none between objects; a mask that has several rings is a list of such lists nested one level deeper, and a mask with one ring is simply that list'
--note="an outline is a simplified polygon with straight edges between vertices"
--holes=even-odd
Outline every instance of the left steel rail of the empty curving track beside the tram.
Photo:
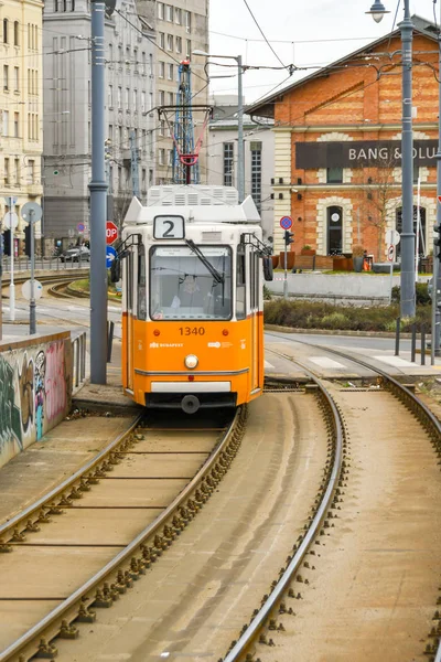
[{"label": "left steel rail of the empty curving track beside the tram", "polygon": [[[272,350],[267,349],[266,351],[268,352],[268,351],[272,351]],[[273,352],[273,353],[279,354],[278,352]],[[293,361],[292,359],[289,359],[288,356],[284,356],[284,354],[279,354],[279,355],[295,363],[295,361]],[[291,559],[290,564],[288,565],[287,569],[284,570],[283,575],[280,577],[279,581],[277,583],[273,590],[269,595],[268,600],[265,602],[265,605],[260,608],[258,613],[251,620],[251,622],[249,623],[249,626],[245,630],[245,632],[239,637],[236,644],[226,654],[226,656],[224,658],[224,662],[235,662],[235,661],[239,660],[239,658],[241,655],[244,655],[247,648],[249,648],[251,642],[256,639],[258,632],[265,626],[265,622],[268,620],[268,618],[269,618],[271,611],[275,609],[277,602],[279,600],[281,600],[283,594],[287,591],[287,588],[288,588],[290,581],[292,580],[294,573],[299,569],[299,566],[302,563],[308,548],[310,547],[312,541],[314,540],[314,537],[318,534],[320,526],[322,525],[322,522],[325,516],[325,511],[327,508],[330,508],[330,504],[333,499],[334,491],[335,491],[335,488],[336,488],[336,484],[337,484],[337,481],[340,478],[342,462],[343,462],[343,426],[342,426],[341,417],[340,417],[340,414],[335,406],[334,401],[332,399],[331,395],[327,393],[326,388],[323,386],[321,381],[318,380],[310,371],[305,370],[305,373],[319,386],[322,395],[324,396],[324,398],[333,414],[334,433],[335,433],[334,465],[332,468],[331,476],[329,478],[326,490],[322,496],[320,506],[319,506],[319,509],[315,513],[315,516],[312,520],[311,525],[310,525],[308,532],[305,533],[299,548],[297,549],[294,556],[292,557],[292,559]]]}]

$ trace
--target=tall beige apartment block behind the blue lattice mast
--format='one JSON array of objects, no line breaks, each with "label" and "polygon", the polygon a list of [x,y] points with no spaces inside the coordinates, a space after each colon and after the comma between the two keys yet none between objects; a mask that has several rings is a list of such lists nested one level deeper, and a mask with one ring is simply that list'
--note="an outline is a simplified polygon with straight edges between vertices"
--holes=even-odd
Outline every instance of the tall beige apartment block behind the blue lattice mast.
[{"label": "tall beige apartment block behind the blue lattice mast", "polygon": [[[193,51],[208,50],[208,0],[137,0],[139,15],[154,25],[157,47],[154,50],[155,97],[154,107],[176,104],[179,65],[190,61],[192,70],[193,103],[207,104],[207,79],[205,62],[192,56]],[[173,141],[164,119],[155,120],[155,183],[170,183],[172,179]],[[195,142],[202,131],[204,116],[194,111]],[[206,136],[204,136],[204,143]],[[207,181],[205,150],[201,150],[201,183]]]}]

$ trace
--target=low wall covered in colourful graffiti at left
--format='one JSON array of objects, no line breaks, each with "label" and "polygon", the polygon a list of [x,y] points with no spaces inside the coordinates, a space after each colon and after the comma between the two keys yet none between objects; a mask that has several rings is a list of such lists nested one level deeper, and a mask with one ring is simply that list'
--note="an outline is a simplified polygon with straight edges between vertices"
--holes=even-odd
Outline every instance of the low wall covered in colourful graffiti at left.
[{"label": "low wall covered in colourful graffiti at left", "polygon": [[66,416],[71,394],[68,332],[0,343],[0,467]]}]

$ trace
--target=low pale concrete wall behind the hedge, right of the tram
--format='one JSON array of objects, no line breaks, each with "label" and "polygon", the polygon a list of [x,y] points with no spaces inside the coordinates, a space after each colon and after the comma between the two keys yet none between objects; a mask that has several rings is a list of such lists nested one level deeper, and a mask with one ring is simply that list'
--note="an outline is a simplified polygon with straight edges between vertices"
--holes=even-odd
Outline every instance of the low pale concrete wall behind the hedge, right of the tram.
[{"label": "low pale concrete wall behind the hedge, right of the tram", "polygon": [[[420,277],[426,282],[428,277]],[[400,285],[400,276],[392,276],[394,286]],[[283,293],[283,275],[275,273],[275,280],[266,284],[275,295]],[[330,299],[333,301],[387,302],[390,292],[390,276],[288,274],[288,292],[292,297]]]}]

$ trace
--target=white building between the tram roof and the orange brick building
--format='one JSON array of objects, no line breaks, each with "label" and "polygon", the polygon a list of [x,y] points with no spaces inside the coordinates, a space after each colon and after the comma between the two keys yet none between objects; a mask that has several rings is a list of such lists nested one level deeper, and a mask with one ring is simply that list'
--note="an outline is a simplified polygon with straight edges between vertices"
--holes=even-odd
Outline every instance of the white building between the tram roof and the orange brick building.
[{"label": "white building between the tram roof and the orange brick building", "polygon": [[[207,142],[207,182],[237,188],[237,95],[212,97],[213,119]],[[258,125],[244,115],[245,195],[251,195],[261,215],[263,238],[272,235],[275,136],[271,125]]]}]

